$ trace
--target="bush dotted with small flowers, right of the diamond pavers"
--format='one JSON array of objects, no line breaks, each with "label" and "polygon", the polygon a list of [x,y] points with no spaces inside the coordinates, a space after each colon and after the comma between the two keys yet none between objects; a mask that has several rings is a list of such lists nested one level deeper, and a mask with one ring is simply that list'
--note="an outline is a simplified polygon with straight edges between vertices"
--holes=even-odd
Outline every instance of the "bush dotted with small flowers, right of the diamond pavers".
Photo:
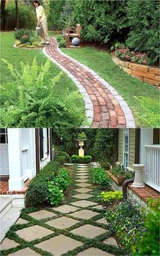
[{"label": "bush dotted with small flowers, right of the diamond pavers", "polygon": [[127,200],[107,209],[106,220],[109,229],[115,234],[121,245],[131,251],[136,243],[136,235],[144,230],[144,221],[138,207]]}]

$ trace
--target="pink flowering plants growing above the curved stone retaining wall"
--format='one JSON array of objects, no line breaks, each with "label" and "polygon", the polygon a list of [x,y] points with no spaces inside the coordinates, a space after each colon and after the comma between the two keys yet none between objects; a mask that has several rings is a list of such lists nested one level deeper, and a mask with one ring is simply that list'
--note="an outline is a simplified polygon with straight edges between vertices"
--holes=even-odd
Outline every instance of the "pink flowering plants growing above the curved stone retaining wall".
[{"label": "pink flowering plants growing above the curved stone retaining wall", "polygon": [[148,58],[146,54],[142,54],[140,52],[134,52],[133,50],[131,51],[128,48],[117,48],[115,50],[115,56],[117,56],[121,60],[135,62],[142,65],[153,64],[151,58]]}]

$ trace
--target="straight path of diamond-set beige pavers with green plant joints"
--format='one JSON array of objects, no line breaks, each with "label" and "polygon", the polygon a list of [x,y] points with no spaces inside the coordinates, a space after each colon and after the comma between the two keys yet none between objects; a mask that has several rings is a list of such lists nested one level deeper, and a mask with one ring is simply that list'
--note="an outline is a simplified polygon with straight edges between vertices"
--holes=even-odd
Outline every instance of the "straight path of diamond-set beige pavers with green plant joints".
[{"label": "straight path of diamond-set beige pavers with green plant joints", "polygon": [[75,186],[66,203],[23,213],[16,222],[19,225],[14,225],[14,232],[3,240],[1,250],[7,250],[5,255],[9,256],[123,255],[108,230],[105,211],[94,189],[89,183],[87,165],[79,164]]}]

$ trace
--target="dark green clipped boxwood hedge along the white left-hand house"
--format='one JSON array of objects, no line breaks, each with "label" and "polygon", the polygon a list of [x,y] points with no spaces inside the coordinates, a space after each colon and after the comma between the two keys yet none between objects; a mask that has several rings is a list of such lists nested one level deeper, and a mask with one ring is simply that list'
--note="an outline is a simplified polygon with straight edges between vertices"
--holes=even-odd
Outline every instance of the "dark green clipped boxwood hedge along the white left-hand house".
[{"label": "dark green clipped boxwood hedge along the white left-hand house", "polygon": [[46,202],[47,182],[54,181],[54,176],[58,173],[59,169],[60,164],[58,162],[51,161],[42,170],[40,170],[28,185],[26,206],[36,206]]}]

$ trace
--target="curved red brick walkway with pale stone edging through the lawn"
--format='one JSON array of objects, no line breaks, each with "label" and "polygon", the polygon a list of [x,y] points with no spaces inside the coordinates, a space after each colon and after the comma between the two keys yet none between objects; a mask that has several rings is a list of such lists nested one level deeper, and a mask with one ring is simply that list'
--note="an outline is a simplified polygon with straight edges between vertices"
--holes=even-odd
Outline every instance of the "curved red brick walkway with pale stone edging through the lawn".
[{"label": "curved red brick walkway with pale stone edging through the lawn", "polygon": [[132,111],[118,92],[92,69],[61,52],[56,39],[51,39],[43,53],[73,79],[83,94],[92,128],[135,128]]}]

